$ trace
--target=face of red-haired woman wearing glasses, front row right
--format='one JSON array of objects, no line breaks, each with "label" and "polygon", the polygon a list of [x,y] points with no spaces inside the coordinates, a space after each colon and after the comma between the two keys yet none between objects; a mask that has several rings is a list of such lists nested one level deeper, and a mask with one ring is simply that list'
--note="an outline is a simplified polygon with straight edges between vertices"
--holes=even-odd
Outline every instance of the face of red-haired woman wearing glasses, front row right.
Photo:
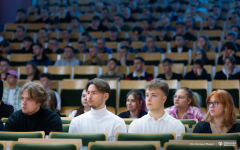
[{"label": "face of red-haired woman wearing glasses, front row right", "polygon": [[[212,96],[210,98],[210,101],[209,102],[219,102],[218,100],[215,99],[214,96]],[[211,104],[209,107],[209,112],[210,112],[210,115],[212,117],[220,117],[220,116],[223,116],[224,113],[225,113],[225,107],[221,104],[221,103],[218,103],[217,106],[215,105],[215,107]]]}]

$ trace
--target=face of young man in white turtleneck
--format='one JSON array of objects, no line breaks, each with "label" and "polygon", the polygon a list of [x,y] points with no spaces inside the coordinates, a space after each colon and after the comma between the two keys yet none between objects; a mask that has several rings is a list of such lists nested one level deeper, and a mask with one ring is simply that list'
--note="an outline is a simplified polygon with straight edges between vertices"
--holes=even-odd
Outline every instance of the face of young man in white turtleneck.
[{"label": "face of young man in white turtleneck", "polygon": [[94,84],[89,85],[87,89],[88,105],[93,109],[101,109],[105,106],[105,101],[108,99],[109,94],[98,91]]}]

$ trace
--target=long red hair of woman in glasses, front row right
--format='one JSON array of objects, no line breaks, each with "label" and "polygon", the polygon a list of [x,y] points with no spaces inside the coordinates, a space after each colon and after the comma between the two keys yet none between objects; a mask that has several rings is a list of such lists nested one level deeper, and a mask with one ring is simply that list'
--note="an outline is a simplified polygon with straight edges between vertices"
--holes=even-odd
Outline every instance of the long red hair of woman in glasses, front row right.
[{"label": "long red hair of woman in glasses, front row right", "polygon": [[[235,106],[233,103],[232,96],[227,91],[217,90],[217,91],[213,91],[208,96],[206,102],[209,102],[212,96],[214,96],[214,98],[225,107],[224,119],[220,128],[221,129],[223,129],[224,127],[227,127],[228,129],[231,128],[237,122],[236,111],[235,111]],[[208,111],[206,116],[206,121],[214,122],[213,119],[214,118],[211,116],[210,112]]]}]

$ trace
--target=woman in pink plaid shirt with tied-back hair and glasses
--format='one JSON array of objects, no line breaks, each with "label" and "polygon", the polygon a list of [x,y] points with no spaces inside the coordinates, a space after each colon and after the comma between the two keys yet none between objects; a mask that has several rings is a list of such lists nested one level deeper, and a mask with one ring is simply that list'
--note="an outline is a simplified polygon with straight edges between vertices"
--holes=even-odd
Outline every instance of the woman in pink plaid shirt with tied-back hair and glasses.
[{"label": "woman in pink plaid shirt with tied-back hair and glasses", "polygon": [[165,109],[176,119],[197,119],[198,122],[205,119],[204,113],[199,109],[201,103],[198,93],[188,87],[178,89],[173,97],[174,106]]}]

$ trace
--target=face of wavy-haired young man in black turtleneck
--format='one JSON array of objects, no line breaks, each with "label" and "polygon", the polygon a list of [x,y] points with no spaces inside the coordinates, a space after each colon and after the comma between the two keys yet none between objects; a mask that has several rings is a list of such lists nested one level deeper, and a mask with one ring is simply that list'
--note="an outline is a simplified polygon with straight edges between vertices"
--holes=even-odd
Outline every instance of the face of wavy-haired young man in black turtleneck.
[{"label": "face of wavy-haired young man in black turtleneck", "polygon": [[41,103],[37,103],[31,99],[27,91],[23,91],[21,95],[21,101],[22,112],[26,115],[32,115],[40,109]]}]

